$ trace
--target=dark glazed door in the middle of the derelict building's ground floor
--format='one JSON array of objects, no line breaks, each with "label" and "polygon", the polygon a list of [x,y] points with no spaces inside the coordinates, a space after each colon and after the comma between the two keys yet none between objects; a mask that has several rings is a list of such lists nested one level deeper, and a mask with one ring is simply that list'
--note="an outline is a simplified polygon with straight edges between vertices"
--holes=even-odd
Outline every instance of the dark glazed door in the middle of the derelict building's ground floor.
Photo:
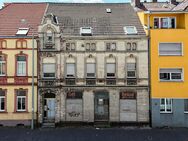
[{"label": "dark glazed door in the middle of the derelict building's ground floor", "polygon": [[95,94],[95,121],[108,121],[109,98],[108,93]]}]

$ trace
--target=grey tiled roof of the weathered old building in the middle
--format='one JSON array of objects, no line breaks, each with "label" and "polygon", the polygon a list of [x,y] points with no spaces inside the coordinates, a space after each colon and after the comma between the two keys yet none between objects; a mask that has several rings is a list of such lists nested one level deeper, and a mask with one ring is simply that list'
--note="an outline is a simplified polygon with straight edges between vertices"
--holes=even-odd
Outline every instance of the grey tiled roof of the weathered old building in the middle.
[{"label": "grey tiled roof of the weathered old building in the middle", "polygon": [[125,36],[124,26],[135,26],[138,35],[145,35],[129,3],[49,3],[47,13],[57,16],[63,35],[79,36],[80,27],[92,27],[93,36]]}]

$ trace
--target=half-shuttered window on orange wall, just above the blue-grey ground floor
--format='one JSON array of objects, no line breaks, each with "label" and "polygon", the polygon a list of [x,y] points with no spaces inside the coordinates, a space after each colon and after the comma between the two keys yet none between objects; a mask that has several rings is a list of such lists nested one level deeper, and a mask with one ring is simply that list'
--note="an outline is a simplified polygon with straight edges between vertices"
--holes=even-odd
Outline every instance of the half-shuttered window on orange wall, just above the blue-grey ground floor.
[{"label": "half-shuttered window on orange wall, just above the blue-grey ground floor", "polygon": [[160,69],[160,81],[182,81],[182,69]]}]

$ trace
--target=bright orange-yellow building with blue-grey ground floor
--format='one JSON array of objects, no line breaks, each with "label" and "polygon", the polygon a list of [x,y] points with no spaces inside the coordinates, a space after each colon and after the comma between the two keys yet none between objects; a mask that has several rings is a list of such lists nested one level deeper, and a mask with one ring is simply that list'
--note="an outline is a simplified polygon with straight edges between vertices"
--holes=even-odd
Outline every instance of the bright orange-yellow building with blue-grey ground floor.
[{"label": "bright orange-yellow building with blue-grey ground floor", "polygon": [[135,1],[149,38],[153,127],[188,127],[188,0]]}]

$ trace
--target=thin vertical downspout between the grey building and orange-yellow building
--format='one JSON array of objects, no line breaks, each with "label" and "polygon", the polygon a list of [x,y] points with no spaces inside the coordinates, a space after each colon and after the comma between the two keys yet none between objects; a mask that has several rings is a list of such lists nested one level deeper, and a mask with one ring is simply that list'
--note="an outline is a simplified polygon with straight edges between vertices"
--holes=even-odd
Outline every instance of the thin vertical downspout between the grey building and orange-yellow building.
[{"label": "thin vertical downspout between the grey building and orange-yellow building", "polygon": [[149,124],[152,127],[152,100],[151,100],[151,37],[150,37],[150,15],[148,11],[148,83],[149,83]]}]

